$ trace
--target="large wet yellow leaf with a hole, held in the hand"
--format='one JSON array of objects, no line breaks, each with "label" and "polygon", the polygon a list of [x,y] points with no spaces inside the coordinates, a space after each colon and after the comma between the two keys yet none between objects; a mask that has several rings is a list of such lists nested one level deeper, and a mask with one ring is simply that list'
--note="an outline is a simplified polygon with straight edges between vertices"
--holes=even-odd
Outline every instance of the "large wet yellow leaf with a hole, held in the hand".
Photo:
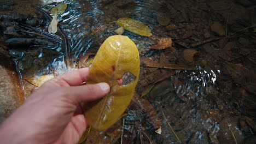
[{"label": "large wet yellow leaf with a hole, held in the hand", "polygon": [[101,45],[88,75],[88,84],[107,82],[110,92],[103,99],[86,106],[88,123],[105,130],[115,123],[135,92],[139,75],[139,53],[126,36],[113,35]]}]

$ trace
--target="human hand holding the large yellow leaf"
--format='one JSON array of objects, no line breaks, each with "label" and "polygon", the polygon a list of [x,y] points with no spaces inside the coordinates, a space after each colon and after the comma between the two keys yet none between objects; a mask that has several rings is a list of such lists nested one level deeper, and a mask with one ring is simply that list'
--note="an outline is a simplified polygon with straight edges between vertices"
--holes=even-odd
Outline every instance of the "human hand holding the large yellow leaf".
[{"label": "human hand holding the large yellow leaf", "polygon": [[2,123],[1,143],[77,143],[88,126],[82,102],[109,92],[107,83],[79,86],[88,73],[83,68],[45,82]]}]

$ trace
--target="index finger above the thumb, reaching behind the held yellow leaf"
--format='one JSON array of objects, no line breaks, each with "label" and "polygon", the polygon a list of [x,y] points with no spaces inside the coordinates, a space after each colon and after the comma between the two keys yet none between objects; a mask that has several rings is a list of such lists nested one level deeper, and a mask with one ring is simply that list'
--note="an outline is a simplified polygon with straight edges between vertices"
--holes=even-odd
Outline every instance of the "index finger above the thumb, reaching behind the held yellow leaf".
[{"label": "index finger above the thumb, reaching behind the held yellow leaf", "polygon": [[46,82],[45,85],[54,87],[78,86],[81,83],[87,81],[88,74],[89,68],[74,70],[55,77],[54,79]]}]

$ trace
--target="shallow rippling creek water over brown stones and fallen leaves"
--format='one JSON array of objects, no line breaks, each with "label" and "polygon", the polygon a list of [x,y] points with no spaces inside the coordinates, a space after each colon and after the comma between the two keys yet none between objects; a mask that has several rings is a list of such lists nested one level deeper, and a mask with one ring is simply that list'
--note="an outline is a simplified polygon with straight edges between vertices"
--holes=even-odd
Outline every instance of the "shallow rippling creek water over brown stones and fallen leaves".
[{"label": "shallow rippling creek water over brown stones and fallen leaves", "polygon": [[[137,45],[142,62],[196,67],[162,69],[141,63],[136,87],[139,95],[165,77],[143,97],[149,103],[139,106],[132,101],[114,130],[92,130],[86,143],[256,141],[255,1],[64,2],[68,7],[58,16],[56,34],[48,33],[52,19],[49,10],[58,3],[0,2],[0,40],[5,41],[5,54],[1,55],[14,63],[25,97],[35,88],[27,78],[57,76],[86,67],[88,53],[96,53],[103,41],[115,34],[119,26],[110,22],[121,17],[131,17],[152,29],[152,37],[129,31],[123,34]],[[172,47],[146,49],[162,37],[172,38]],[[40,41],[28,44],[24,38]],[[144,110],[150,106],[155,115]],[[161,121],[161,134],[155,132],[157,119]]]}]

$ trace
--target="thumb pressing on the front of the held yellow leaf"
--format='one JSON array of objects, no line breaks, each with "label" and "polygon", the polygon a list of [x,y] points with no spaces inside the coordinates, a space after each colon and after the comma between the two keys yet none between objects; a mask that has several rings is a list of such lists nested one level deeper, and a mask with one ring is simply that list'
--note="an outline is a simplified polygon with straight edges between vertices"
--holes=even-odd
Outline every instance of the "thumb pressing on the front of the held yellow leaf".
[{"label": "thumb pressing on the front of the held yellow leaf", "polygon": [[65,95],[73,104],[85,101],[93,101],[102,98],[109,92],[108,83],[102,82],[94,85],[83,85],[65,88]]}]

